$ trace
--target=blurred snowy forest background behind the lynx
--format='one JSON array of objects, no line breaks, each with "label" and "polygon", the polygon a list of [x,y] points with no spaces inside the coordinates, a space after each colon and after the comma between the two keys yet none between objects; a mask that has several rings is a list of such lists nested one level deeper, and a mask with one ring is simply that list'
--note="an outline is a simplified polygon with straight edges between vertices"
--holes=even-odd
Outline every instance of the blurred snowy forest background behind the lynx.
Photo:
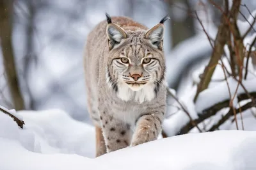
[{"label": "blurred snowy forest background behind the lynx", "polygon": [[[241,4],[247,8],[241,6],[238,19],[245,22],[256,1]],[[214,41],[222,15],[216,5],[225,7],[222,0],[0,0],[0,105],[17,110],[58,108],[91,123],[83,50],[86,35],[105,20],[105,12],[147,27],[170,15],[164,33],[166,77],[177,97],[184,97],[195,85],[193,72],[211,58],[205,31]]]}]

